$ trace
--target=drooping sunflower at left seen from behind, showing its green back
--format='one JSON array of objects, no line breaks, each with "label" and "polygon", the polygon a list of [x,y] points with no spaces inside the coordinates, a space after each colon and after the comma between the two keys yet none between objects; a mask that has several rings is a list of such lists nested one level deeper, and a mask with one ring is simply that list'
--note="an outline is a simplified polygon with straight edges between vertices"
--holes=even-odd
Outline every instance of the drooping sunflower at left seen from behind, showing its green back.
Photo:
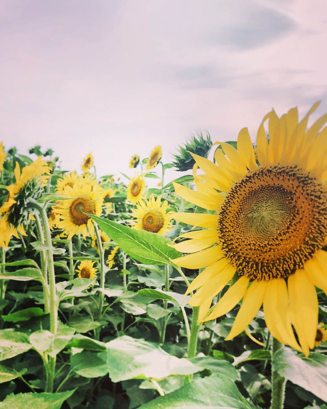
[{"label": "drooping sunflower at left seen from behind, showing its green back", "polygon": [[31,201],[38,200],[44,193],[43,188],[50,177],[50,168],[38,157],[22,171],[16,162],[14,175],[16,183],[7,187],[8,195],[0,207],[0,214],[4,213],[2,228],[6,231],[6,237],[13,234],[19,238],[18,233],[26,236],[24,226],[28,226],[29,220],[35,220]]}]

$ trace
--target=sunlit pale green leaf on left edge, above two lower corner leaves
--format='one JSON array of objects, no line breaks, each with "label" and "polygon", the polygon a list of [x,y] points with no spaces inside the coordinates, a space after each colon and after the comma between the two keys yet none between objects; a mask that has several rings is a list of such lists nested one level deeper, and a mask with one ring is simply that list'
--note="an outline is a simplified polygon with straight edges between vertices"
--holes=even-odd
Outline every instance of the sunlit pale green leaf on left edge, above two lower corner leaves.
[{"label": "sunlit pale green leaf on left edge, above two lower corner leaves", "polygon": [[32,345],[24,333],[0,330],[0,361],[15,357],[31,348]]}]

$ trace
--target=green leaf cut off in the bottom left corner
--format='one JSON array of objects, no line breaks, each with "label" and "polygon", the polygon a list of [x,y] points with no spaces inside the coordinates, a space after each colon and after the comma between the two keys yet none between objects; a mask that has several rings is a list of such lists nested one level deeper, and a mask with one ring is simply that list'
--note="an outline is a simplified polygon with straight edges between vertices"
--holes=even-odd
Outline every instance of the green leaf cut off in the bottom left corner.
[{"label": "green leaf cut off in the bottom left corner", "polygon": [[65,391],[58,393],[17,393],[16,395],[9,395],[0,403],[0,409],[60,409],[63,402],[75,392]]}]

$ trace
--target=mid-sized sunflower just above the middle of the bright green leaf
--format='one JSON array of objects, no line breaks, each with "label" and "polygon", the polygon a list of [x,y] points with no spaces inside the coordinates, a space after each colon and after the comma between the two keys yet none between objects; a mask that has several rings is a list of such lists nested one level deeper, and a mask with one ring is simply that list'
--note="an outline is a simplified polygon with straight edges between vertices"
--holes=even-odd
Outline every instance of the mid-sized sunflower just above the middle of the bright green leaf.
[{"label": "mid-sized sunflower just above the middle of the bright green leaf", "polygon": [[172,229],[170,219],[172,218],[172,212],[167,211],[168,202],[164,200],[161,204],[161,197],[158,196],[157,200],[153,195],[149,200],[145,198],[145,201],[140,200],[136,209],[132,209],[131,216],[136,217],[136,220],[132,220],[130,225],[137,230],[152,231],[152,233],[166,234]]}]

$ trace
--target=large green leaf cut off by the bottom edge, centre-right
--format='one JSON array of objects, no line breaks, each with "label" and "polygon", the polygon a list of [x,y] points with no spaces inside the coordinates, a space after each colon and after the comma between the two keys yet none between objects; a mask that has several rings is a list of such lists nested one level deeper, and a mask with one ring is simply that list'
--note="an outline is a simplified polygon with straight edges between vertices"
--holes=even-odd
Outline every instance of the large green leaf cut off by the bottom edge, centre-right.
[{"label": "large green leaf cut off by the bottom edge, centre-right", "polygon": [[206,378],[199,378],[180,389],[159,396],[142,405],[140,409],[199,409],[233,408],[254,409],[237,389],[235,383],[226,375],[217,373]]}]

